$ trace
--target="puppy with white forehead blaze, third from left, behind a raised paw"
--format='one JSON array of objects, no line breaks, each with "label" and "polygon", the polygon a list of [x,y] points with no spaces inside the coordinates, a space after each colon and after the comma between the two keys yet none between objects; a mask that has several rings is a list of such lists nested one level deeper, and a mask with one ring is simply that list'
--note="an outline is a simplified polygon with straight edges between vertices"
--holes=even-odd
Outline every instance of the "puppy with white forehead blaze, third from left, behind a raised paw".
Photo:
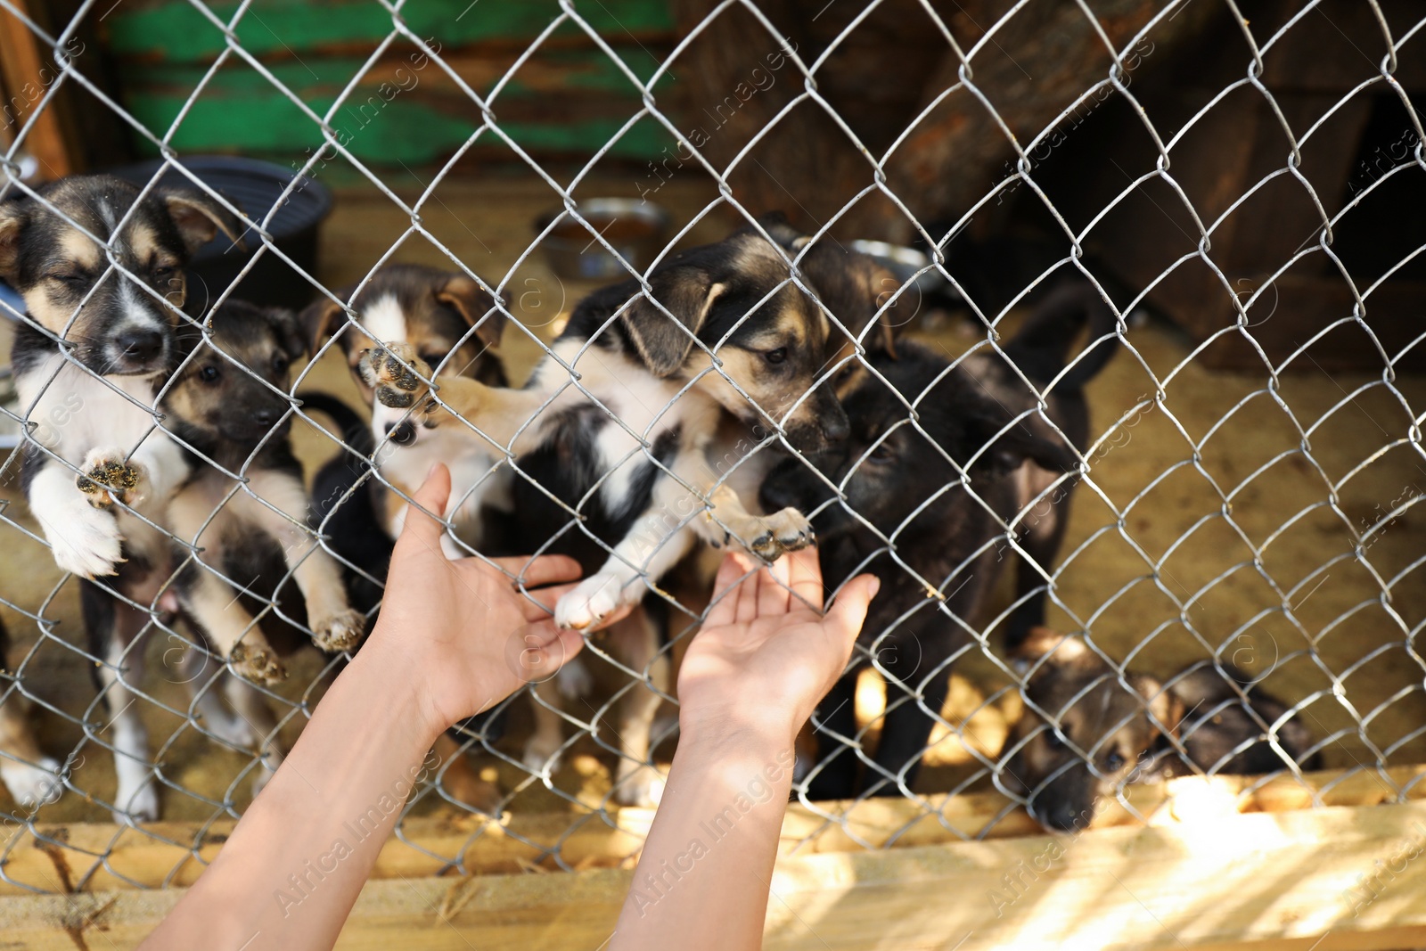
[{"label": "puppy with white forehead blaze, third from left, behind a raised paw", "polygon": [[[361,461],[345,459],[345,452],[338,453],[317,476],[317,482],[331,486],[315,495],[318,518],[364,519],[368,506],[375,509],[379,528],[362,526],[356,530],[354,525],[352,530],[347,530],[345,526],[338,526],[332,533],[348,535],[354,540],[366,536],[365,546],[349,552],[351,559],[362,565],[381,563],[391,557],[391,546],[401,533],[406,510],[405,500],[388,490],[382,480],[411,495],[431,466],[443,462],[451,469],[451,502],[445,516],[455,522],[461,542],[471,549],[486,550],[498,542],[492,536],[492,509],[508,512],[511,508],[509,469],[496,468],[503,456],[453,429],[432,432],[416,441],[408,413],[376,401],[375,389],[359,372],[359,362],[371,346],[396,341],[409,346],[442,375],[505,386],[505,366],[496,349],[505,329],[505,312],[466,275],[415,264],[385,265],[355,298],[352,294],[354,288],[337,294],[351,301],[349,318],[341,304],[322,299],[302,311],[301,319],[314,354],[331,336],[345,355],[362,401],[371,406],[374,459],[381,479],[366,480],[362,490],[371,495],[369,502],[342,510],[347,506],[338,508],[335,503],[344,498],[345,488],[355,485],[355,479],[344,469],[351,471],[352,463]],[[329,472],[325,471],[328,468]],[[442,538],[442,545],[451,557],[469,553],[449,538]]]}]

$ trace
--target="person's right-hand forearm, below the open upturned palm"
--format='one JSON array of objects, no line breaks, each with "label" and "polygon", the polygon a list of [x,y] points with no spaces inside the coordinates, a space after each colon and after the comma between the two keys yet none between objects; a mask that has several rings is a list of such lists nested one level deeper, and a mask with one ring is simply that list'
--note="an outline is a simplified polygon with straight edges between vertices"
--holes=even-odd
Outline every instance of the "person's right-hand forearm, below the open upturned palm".
[{"label": "person's right-hand forearm, below the open upturned palm", "polygon": [[761,947],[793,736],[686,727],[612,950]]}]

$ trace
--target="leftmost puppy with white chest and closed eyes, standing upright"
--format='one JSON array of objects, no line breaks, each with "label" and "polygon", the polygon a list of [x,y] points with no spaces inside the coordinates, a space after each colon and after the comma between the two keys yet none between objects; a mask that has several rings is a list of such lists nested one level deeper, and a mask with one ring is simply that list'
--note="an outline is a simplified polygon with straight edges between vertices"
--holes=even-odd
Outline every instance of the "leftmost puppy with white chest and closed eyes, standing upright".
[{"label": "leftmost puppy with white chest and closed eyes, standing upright", "polygon": [[187,463],[155,402],[180,358],[184,265],[220,230],[237,241],[237,218],[207,195],[140,198],[110,175],[0,202],[0,277],[29,311],[11,352],[20,403],[30,419],[64,419],[29,433],[21,485],[56,563],[83,579],[113,576],[81,582],[80,600],[117,717],[120,820],[158,814],[128,687],[143,679],[143,649],[130,647],[151,617],[140,606],[155,605],[168,579],[168,538],[154,526]]}]

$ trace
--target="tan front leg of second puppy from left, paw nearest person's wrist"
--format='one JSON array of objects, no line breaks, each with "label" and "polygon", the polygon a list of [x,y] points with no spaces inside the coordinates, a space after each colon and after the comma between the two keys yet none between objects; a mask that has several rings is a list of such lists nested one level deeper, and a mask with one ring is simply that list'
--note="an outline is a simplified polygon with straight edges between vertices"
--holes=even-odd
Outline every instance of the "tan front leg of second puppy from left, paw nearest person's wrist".
[{"label": "tan front leg of second puppy from left, paw nearest person's wrist", "polygon": [[248,489],[257,495],[247,499],[248,510],[282,546],[282,557],[307,600],[312,643],[328,653],[351,650],[366,630],[366,617],[348,606],[341,566],[307,528],[301,480],[285,472],[254,472]]}]

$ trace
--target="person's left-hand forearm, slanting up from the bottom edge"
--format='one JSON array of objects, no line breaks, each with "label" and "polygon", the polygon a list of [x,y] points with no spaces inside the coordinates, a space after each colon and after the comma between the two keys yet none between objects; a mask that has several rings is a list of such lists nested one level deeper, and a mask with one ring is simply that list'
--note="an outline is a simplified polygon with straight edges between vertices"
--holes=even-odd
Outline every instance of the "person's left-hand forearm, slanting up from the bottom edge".
[{"label": "person's left-hand forearm, slanting up from the bottom edge", "polygon": [[429,774],[422,677],[384,633],[337,679],[222,853],[145,948],[329,948]]}]

